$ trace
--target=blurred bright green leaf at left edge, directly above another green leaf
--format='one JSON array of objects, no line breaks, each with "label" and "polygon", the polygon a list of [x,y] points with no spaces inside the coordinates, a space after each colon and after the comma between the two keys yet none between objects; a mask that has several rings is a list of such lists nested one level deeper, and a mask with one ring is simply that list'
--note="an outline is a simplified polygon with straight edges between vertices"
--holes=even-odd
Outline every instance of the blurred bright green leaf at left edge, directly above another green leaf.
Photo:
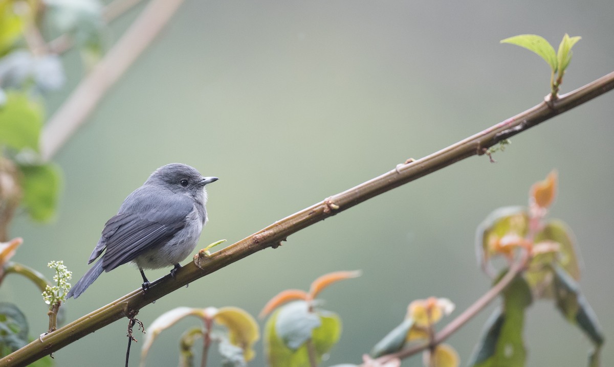
[{"label": "blurred bright green leaf at left edge, directly above another green leaf", "polygon": [[38,151],[42,111],[42,106],[25,93],[7,92],[6,103],[0,108],[0,145]]}]

